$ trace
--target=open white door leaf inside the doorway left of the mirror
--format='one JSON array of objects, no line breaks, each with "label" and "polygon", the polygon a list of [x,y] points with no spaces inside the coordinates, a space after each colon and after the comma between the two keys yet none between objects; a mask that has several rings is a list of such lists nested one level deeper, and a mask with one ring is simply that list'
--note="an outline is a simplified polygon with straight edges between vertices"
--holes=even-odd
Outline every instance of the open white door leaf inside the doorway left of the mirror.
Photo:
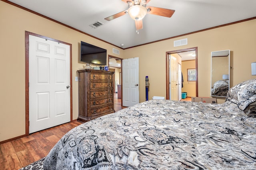
[{"label": "open white door leaf inside the doorway left of the mirror", "polygon": [[170,100],[178,100],[177,59],[170,56]]}]

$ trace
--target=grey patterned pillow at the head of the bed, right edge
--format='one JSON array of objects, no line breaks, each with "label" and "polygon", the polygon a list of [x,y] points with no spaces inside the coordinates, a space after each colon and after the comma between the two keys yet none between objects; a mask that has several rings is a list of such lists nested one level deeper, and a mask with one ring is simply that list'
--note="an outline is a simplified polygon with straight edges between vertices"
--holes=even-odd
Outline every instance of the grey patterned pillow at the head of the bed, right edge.
[{"label": "grey patterned pillow at the head of the bed, right edge", "polygon": [[226,100],[237,104],[241,110],[246,109],[256,102],[256,79],[246,80],[230,88]]}]

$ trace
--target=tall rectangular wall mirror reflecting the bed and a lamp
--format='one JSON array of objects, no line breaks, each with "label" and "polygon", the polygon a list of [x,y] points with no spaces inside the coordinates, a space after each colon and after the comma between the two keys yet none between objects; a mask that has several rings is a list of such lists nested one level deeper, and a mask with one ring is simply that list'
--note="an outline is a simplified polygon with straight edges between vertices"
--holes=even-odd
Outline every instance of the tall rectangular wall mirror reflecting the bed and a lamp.
[{"label": "tall rectangular wall mirror reflecting the bed and a lamp", "polygon": [[230,84],[230,50],[213,51],[211,57],[211,96],[226,97]]}]

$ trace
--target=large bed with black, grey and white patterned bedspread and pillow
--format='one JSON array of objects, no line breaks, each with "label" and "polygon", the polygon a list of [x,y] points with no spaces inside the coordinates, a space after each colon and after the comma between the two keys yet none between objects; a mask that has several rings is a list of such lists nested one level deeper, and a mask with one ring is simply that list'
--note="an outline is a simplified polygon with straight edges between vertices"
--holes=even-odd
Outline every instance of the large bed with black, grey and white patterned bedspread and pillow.
[{"label": "large bed with black, grey and white patterned bedspread and pillow", "polygon": [[256,79],[226,100],[150,100],[98,117],[66,133],[44,169],[256,169]]}]

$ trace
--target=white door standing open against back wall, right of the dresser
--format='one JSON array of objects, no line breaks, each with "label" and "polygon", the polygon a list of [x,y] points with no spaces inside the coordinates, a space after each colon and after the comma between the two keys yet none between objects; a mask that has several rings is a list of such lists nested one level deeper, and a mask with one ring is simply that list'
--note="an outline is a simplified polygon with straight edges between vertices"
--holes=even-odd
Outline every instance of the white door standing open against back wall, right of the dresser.
[{"label": "white door standing open against back wall, right of the dresser", "polygon": [[139,103],[139,58],[122,60],[123,106]]}]

